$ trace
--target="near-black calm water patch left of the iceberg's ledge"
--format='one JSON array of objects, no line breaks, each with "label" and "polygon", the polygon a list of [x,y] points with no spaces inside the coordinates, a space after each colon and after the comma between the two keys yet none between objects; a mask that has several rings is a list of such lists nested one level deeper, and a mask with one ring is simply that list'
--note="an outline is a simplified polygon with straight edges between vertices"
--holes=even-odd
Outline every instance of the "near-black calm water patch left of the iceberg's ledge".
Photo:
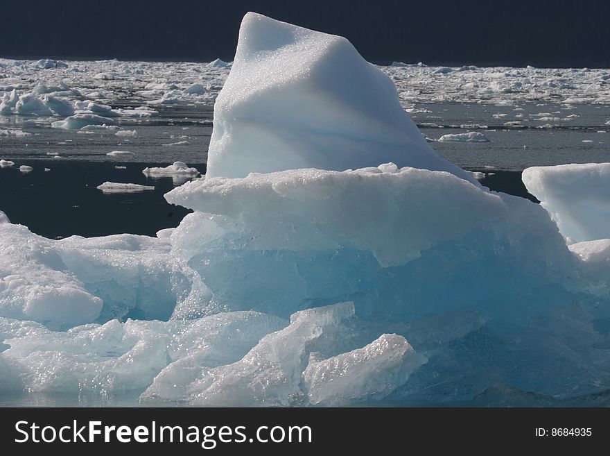
[{"label": "near-black calm water patch left of the iceberg's ledge", "polygon": [[[126,169],[116,169],[117,165]],[[205,170],[204,164],[193,165]],[[0,210],[12,223],[45,237],[154,236],[177,226],[191,212],[163,198],[175,187],[172,178],[147,178],[141,172],[147,165],[141,163],[38,160],[32,166],[29,173],[16,167],[0,170]],[[155,190],[103,194],[96,187],[105,181],[154,185]]]}]

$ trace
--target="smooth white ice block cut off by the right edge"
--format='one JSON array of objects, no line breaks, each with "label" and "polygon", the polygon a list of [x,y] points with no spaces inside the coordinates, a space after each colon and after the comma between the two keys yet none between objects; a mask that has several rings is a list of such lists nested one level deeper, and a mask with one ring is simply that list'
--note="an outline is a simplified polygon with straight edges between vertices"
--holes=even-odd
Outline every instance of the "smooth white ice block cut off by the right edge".
[{"label": "smooth white ice block cut off by the right edge", "polygon": [[576,242],[610,237],[610,163],[531,167],[522,179],[564,236]]}]

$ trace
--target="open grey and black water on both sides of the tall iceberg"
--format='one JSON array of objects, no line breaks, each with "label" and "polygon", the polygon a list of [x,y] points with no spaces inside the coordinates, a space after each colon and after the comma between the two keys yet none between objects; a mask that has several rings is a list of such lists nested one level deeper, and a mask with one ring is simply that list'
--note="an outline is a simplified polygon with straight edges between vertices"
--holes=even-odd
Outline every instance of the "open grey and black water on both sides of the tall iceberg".
[{"label": "open grey and black water on both sides of the tall iceberg", "polygon": [[[124,108],[126,103],[110,105]],[[0,158],[15,162],[14,167],[0,169],[0,210],[13,223],[50,238],[155,235],[158,230],[177,226],[189,210],[166,203],[163,195],[185,180],[150,178],[141,171],[180,160],[204,173],[213,108],[157,109],[159,115],[148,119],[118,120],[121,128],[137,130],[137,137],[119,137],[116,130],[83,134],[51,128],[37,117],[4,118],[3,126],[30,135],[0,137]],[[610,126],[604,125],[609,109],[603,105],[421,103],[416,109],[419,112],[410,115],[430,140],[469,131],[483,133],[489,142],[435,141],[430,145],[460,167],[485,174],[479,175],[482,185],[532,201],[535,199],[521,183],[523,169],[610,160]],[[554,126],[536,120],[545,117],[553,117]],[[505,125],[519,119],[521,125]],[[133,155],[106,155],[110,151],[130,151]],[[20,172],[22,164],[33,171]],[[155,189],[103,194],[96,187],[106,181]]]}]

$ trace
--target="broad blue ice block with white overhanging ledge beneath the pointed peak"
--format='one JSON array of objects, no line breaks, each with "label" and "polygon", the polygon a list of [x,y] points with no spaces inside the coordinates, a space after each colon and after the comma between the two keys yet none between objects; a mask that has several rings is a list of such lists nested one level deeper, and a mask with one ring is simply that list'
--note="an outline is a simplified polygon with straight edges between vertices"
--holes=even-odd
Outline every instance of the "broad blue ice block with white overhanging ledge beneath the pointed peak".
[{"label": "broad blue ice block with white overhanging ledge beneath the pointed peak", "polygon": [[166,199],[195,210],[171,242],[211,289],[211,308],[288,316],[349,299],[373,318],[485,309],[509,326],[539,312],[532,290],[562,289],[576,267],[539,205],[440,171],[206,178]]}]

